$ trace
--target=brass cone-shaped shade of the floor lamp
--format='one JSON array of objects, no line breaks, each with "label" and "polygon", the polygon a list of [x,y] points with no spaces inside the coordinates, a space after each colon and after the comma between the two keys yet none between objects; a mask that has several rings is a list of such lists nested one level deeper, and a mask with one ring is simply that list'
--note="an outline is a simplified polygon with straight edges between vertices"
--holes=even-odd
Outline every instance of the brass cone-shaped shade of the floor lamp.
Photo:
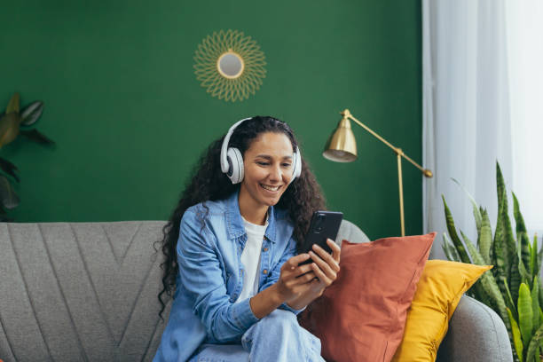
[{"label": "brass cone-shaped shade of the floor lamp", "polygon": [[352,162],[357,159],[357,141],[346,117],[338,123],[334,133],[328,138],[322,155],[330,161]]}]

